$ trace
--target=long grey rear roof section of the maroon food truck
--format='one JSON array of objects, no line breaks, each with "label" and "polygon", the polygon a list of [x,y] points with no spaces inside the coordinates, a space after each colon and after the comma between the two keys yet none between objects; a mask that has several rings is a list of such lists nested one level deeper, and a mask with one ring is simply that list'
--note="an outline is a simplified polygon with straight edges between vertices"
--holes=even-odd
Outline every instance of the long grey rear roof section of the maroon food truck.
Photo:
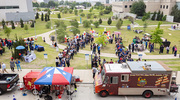
[{"label": "long grey rear roof section of the maroon food truck", "polygon": [[136,61],[136,62],[127,62],[131,71],[170,71],[162,64],[156,61]]}]

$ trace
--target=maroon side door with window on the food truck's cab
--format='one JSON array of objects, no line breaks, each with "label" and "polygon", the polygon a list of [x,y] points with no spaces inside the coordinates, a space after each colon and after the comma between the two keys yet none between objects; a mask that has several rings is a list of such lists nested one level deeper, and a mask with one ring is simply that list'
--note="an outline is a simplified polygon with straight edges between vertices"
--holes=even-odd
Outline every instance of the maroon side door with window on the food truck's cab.
[{"label": "maroon side door with window on the food truck's cab", "polygon": [[118,95],[119,76],[109,77],[109,95]]}]

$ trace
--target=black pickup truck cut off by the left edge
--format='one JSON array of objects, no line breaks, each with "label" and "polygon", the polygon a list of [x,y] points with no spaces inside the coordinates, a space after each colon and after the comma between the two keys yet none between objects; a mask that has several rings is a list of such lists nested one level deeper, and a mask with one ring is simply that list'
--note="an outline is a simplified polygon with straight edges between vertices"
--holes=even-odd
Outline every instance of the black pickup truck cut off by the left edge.
[{"label": "black pickup truck cut off by the left edge", "polygon": [[19,81],[18,74],[1,74],[0,73],[0,95],[14,89]]}]

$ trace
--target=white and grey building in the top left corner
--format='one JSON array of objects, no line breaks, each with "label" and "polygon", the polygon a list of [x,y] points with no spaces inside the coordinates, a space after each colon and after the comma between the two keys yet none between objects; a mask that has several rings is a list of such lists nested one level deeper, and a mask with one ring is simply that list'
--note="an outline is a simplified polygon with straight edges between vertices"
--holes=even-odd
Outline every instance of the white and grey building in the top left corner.
[{"label": "white and grey building in the top left corner", "polygon": [[34,20],[32,0],[0,0],[0,21]]}]

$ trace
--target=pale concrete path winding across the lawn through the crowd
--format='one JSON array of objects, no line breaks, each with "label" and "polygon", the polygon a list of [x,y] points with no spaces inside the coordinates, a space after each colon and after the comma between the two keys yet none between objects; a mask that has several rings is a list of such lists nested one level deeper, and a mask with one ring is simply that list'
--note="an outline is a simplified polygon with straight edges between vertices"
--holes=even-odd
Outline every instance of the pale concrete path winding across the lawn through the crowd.
[{"label": "pale concrete path winding across the lawn through the crowd", "polygon": [[[51,33],[53,33],[53,32],[55,32],[55,30],[52,30],[52,31],[49,31],[49,32],[46,32],[46,33],[43,33],[43,34],[40,34],[40,35],[37,35],[37,36],[40,36],[42,38],[45,37],[46,43],[49,44],[49,45],[52,45],[52,42],[51,42],[51,40],[49,38],[49,35]],[[58,47],[59,47],[59,49],[66,48],[66,46],[61,45],[61,44],[58,44]],[[91,55],[91,51],[87,51],[87,50],[80,50],[79,53]],[[141,53],[138,53],[138,54],[141,54]],[[101,56],[117,58],[117,56],[115,54],[112,54],[112,53],[101,53]],[[133,59],[138,59],[138,55],[132,55],[132,58]],[[177,59],[177,58],[179,58],[179,55],[174,57],[172,54],[170,54],[170,55],[143,55],[142,56],[142,59]]]}]

